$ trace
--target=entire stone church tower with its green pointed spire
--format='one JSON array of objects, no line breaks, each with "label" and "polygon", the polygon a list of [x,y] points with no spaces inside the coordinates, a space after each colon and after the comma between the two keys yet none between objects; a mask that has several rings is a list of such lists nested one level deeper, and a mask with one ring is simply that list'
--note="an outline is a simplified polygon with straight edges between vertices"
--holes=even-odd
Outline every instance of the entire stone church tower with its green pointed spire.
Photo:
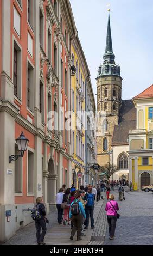
[{"label": "entire stone church tower with its green pointed spire", "polygon": [[[105,165],[109,162],[114,125],[118,125],[119,110],[122,103],[122,77],[120,66],[116,65],[112,48],[110,10],[107,25],[106,50],[103,65],[98,68],[97,111],[105,112],[103,133],[97,137],[97,162]],[[102,119],[103,120],[103,119]],[[104,120],[103,120],[104,121]]]}]

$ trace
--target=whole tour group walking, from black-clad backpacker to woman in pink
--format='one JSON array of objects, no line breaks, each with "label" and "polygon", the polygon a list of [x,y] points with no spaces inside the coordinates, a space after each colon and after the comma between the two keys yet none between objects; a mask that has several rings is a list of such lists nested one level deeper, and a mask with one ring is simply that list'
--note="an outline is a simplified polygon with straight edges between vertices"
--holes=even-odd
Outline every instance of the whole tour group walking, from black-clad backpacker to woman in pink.
[{"label": "whole tour group walking, from black-clad backpacker to woman in pink", "polygon": [[[56,194],[56,209],[58,211],[58,223],[64,226],[71,225],[70,240],[76,233],[77,241],[82,240],[82,236],[86,236],[83,231],[88,229],[89,221],[91,220],[91,229],[94,228],[94,202],[95,200],[104,200],[104,193],[106,191],[107,203],[105,210],[107,212],[107,222],[109,224],[110,239],[114,239],[114,232],[116,229],[117,218],[119,214],[118,203],[114,200],[114,195],[111,192],[111,182],[105,183],[100,181],[97,187],[92,187],[92,185],[87,184],[86,187],[80,186],[76,190],[74,184],[71,188],[66,188],[63,185],[59,192]],[[131,184],[130,184],[131,185]],[[118,185],[119,200],[124,198],[124,188],[122,183],[119,182]],[[45,245],[44,236],[46,234],[46,211],[43,204],[43,198],[38,197],[36,199],[36,205],[33,208],[31,217],[35,220],[36,226],[36,237],[38,245]],[[42,233],[41,233],[42,228]]]}]

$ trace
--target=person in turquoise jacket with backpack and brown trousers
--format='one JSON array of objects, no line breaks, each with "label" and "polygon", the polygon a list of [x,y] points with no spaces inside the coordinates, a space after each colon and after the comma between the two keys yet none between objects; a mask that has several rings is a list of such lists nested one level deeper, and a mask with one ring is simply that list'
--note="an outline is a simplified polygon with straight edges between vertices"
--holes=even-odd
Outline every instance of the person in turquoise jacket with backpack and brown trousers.
[{"label": "person in turquoise jacket with backpack and brown trousers", "polygon": [[75,194],[75,200],[72,202],[71,208],[69,211],[69,218],[71,218],[72,224],[73,224],[70,239],[73,240],[73,236],[77,231],[77,234],[76,234],[77,241],[82,240],[81,229],[82,229],[83,217],[86,219],[84,206],[80,199],[81,199],[81,193],[78,192]]}]

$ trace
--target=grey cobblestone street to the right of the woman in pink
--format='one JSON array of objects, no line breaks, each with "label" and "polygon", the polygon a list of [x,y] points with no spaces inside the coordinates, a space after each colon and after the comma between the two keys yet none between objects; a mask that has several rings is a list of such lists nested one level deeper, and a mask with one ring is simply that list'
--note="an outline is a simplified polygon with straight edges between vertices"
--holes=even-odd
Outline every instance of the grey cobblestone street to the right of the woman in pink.
[{"label": "grey cobblestone street to the right of the woman in pink", "polygon": [[[118,193],[114,191],[118,200]],[[153,193],[125,192],[125,201],[118,202],[120,218],[114,240],[109,240],[107,227],[104,245],[153,245]]]}]

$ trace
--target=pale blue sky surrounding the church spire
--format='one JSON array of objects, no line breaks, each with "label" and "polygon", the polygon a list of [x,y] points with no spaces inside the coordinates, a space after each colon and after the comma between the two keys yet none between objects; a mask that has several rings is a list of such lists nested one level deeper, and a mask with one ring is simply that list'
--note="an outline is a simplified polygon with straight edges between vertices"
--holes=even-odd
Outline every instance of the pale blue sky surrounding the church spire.
[{"label": "pale blue sky surrounding the church spire", "polygon": [[[70,0],[76,29],[90,69],[94,94],[97,70],[103,64],[108,7],[113,53],[120,65],[122,99],[143,92],[153,84],[153,1]],[[97,101],[95,96],[95,101]]]}]

